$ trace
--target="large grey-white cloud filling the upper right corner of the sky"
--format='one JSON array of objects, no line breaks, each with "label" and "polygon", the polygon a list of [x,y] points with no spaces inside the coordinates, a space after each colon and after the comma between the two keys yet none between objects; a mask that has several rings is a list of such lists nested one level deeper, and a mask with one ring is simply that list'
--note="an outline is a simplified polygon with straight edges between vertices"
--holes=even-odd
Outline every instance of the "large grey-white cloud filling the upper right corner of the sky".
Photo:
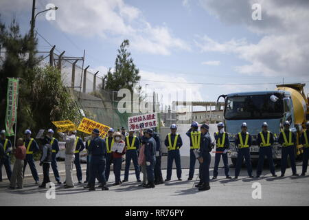
[{"label": "large grey-white cloud filling the upper right corner of the sky", "polygon": [[[195,41],[202,52],[237,54],[247,65],[235,67],[242,74],[264,76],[308,76],[309,1],[201,0],[201,5],[229,25],[245,25],[262,34],[258,43],[245,39],[218,42],[203,36]],[[262,21],[251,19],[251,5],[260,3]]]}]

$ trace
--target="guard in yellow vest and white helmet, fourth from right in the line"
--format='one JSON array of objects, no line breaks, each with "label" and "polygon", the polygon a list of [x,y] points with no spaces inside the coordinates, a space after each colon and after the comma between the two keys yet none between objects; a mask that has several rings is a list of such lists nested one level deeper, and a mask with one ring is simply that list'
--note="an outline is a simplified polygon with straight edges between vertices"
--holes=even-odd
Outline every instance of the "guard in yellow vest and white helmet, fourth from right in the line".
[{"label": "guard in yellow vest and white helmet, fourth from right in the line", "polygon": [[235,144],[238,147],[237,162],[235,168],[235,179],[238,179],[243,159],[246,159],[246,166],[249,177],[253,178],[252,165],[250,159],[250,149],[249,149],[252,144],[252,137],[247,132],[248,126],[246,122],[242,123],[241,129],[242,131],[238,133],[238,135],[236,135],[235,140]]}]

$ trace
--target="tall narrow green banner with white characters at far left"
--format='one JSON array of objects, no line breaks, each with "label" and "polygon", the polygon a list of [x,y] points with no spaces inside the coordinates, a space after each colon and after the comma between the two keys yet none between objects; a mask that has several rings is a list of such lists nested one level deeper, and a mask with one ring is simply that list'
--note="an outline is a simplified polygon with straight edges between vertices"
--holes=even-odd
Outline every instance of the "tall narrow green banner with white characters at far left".
[{"label": "tall narrow green banner with white characters at far left", "polygon": [[8,78],[8,93],[6,97],[5,135],[13,136],[13,126],[17,118],[17,102],[19,97],[19,79]]}]

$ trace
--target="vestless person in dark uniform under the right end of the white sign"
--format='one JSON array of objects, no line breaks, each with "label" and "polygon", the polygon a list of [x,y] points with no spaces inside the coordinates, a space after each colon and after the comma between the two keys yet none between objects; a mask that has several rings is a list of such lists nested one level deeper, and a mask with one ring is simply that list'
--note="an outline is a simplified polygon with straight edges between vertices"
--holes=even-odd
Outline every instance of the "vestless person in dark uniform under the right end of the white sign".
[{"label": "vestless person in dark uniform under the right end of the white sign", "polygon": [[144,154],[146,156],[146,170],[147,170],[147,179],[148,184],[145,188],[155,188],[155,163],[156,163],[156,141],[152,137],[152,129],[147,129],[145,137],[147,138],[145,144]]}]

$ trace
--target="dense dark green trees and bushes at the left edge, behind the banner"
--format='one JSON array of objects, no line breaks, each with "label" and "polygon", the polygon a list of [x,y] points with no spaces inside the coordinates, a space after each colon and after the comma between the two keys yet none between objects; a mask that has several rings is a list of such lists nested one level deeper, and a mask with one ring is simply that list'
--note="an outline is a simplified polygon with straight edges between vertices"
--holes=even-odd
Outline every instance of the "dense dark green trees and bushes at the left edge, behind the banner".
[{"label": "dense dark green trees and bushes at the left edge, behind the banner", "polygon": [[8,28],[0,21],[0,44],[5,50],[5,56],[1,54],[0,58],[0,129],[5,129],[7,77],[20,78],[17,137],[22,137],[25,129],[31,129],[35,135],[38,129],[52,127],[54,120],[79,124],[80,111],[63,85],[60,71],[38,66],[37,56],[30,68],[28,55],[30,50],[36,54],[36,40],[30,34],[22,36],[16,21]]}]

